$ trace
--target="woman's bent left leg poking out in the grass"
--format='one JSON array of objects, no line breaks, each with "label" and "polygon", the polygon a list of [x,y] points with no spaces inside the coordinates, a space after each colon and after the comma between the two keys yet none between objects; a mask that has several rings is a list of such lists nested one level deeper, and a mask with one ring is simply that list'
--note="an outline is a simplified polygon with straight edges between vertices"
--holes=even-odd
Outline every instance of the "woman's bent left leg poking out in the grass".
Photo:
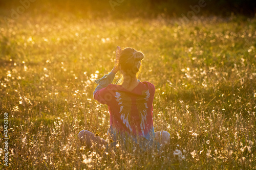
[{"label": "woman's bent left leg poking out in the grass", "polygon": [[93,143],[97,148],[101,148],[103,145],[107,144],[104,139],[87,130],[80,131],[78,133],[78,138],[83,145],[86,145],[87,148],[91,148]]}]

